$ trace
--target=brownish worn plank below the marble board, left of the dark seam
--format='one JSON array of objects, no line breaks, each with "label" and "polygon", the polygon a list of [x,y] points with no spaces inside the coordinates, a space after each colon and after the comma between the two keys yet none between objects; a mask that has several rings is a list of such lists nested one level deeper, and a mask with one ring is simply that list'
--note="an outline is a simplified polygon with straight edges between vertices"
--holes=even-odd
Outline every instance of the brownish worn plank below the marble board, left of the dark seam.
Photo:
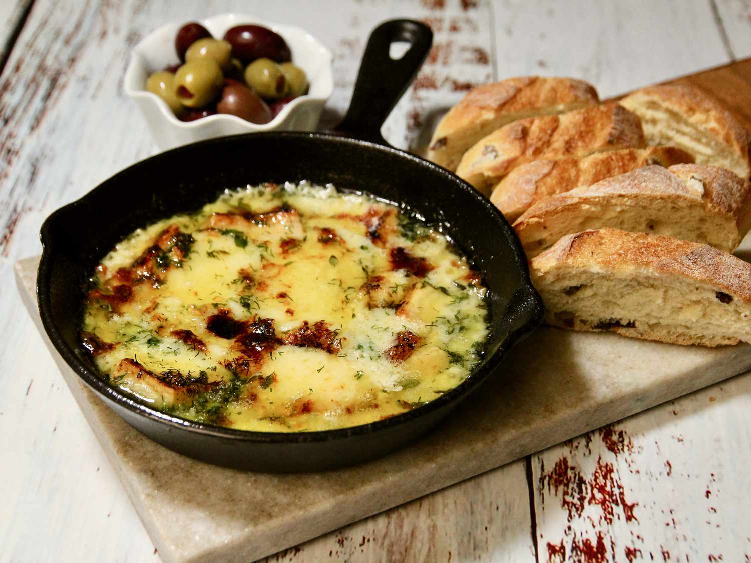
[{"label": "brownish worn plank below the marble board, left of the dark seam", "polygon": [[534,561],[525,478],[520,460],[264,561]]}]

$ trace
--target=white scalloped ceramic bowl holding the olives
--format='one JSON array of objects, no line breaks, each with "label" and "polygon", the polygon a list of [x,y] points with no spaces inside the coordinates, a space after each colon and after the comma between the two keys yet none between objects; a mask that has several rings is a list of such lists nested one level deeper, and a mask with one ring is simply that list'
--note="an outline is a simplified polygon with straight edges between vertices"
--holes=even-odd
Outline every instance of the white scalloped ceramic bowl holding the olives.
[{"label": "white scalloped ceramic bowl holding the olives", "polygon": [[152,72],[179,62],[175,53],[175,35],[189,21],[192,20],[167,23],[146,35],[134,48],[125,71],[125,93],[140,108],[159,149],[167,150],[211,137],[256,131],[315,131],[324,104],[333,92],[330,50],[302,28],[268,22],[248,14],[219,14],[199,21],[216,38],[222,38],[228,29],[243,23],[273,29],[287,41],[294,64],[307,74],[309,92],[295,98],[279,115],[263,125],[222,113],[192,122],[177,119],[164,100],[146,91],[146,79]]}]

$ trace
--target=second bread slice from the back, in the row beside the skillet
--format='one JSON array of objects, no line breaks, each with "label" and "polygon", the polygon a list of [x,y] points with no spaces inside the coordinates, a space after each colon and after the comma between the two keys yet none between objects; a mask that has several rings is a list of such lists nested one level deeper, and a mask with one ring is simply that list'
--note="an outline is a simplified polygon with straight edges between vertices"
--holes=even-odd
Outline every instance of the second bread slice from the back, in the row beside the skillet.
[{"label": "second bread slice from the back, in the row beside the skillet", "polygon": [[644,146],[639,118],[611,102],[504,125],[464,153],[457,176],[490,196],[500,179],[521,164]]}]

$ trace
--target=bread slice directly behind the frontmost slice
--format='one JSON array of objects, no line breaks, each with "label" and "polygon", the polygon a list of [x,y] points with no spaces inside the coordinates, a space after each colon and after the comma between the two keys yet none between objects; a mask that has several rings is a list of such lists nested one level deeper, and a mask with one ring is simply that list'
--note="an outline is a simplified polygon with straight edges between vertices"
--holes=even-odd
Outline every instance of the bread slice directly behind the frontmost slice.
[{"label": "bread slice directly behind the frontmost slice", "polygon": [[751,182],[700,164],[647,166],[547,197],[514,222],[530,258],[563,235],[602,227],[675,236],[732,252],[751,228]]}]

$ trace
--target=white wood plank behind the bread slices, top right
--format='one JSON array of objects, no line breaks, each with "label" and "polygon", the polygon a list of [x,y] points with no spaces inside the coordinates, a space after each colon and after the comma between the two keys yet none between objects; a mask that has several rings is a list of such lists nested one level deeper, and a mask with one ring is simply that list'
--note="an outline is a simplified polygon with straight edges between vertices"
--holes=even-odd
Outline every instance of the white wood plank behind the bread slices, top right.
[{"label": "white wood plank behind the bread slices, top right", "polygon": [[494,2],[499,77],[582,78],[602,98],[729,62],[709,2]]}]

